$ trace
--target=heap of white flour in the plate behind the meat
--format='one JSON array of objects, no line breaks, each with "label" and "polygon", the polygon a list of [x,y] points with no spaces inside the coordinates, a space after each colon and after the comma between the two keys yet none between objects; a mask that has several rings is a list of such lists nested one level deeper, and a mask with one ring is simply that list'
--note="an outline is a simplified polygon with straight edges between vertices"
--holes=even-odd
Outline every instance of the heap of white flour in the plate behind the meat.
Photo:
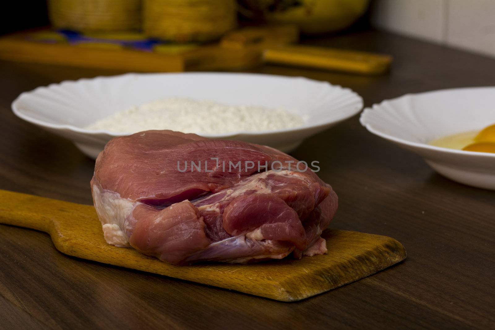
[{"label": "heap of white flour in the plate behind the meat", "polygon": [[270,131],[301,126],[305,119],[282,108],[224,105],[190,98],[166,98],[133,106],[86,127],[119,133],[173,130],[184,133],[222,134]]}]

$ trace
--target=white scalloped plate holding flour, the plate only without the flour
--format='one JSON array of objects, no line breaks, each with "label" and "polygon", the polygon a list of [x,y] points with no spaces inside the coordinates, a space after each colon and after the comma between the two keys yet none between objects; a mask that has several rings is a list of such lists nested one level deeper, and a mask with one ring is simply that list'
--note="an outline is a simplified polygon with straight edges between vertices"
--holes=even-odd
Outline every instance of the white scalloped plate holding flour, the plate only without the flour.
[{"label": "white scalloped plate holding flour, the plate only without the flour", "polygon": [[347,88],[302,77],[237,73],[125,74],[64,81],[20,94],[12,103],[20,118],[74,141],[96,158],[115,136],[132,132],[94,131],[85,127],[133,105],[172,96],[232,105],[284,107],[307,116],[304,126],[268,132],[204,135],[270,145],[289,152],[303,139],[358,113],[362,98]]}]

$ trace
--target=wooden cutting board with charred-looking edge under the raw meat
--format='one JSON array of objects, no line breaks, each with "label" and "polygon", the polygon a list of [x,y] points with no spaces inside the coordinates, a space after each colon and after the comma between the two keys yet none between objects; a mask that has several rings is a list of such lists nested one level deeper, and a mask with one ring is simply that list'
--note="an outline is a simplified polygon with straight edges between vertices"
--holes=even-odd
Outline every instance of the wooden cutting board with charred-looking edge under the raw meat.
[{"label": "wooden cutting board with charred-looking edge under the raw meat", "polygon": [[379,272],[406,257],[394,238],[328,230],[328,254],[251,265],[173,266],[132,248],[108,245],[95,208],[0,190],[0,223],[48,233],[62,253],[218,286],[281,301],[297,301]]}]

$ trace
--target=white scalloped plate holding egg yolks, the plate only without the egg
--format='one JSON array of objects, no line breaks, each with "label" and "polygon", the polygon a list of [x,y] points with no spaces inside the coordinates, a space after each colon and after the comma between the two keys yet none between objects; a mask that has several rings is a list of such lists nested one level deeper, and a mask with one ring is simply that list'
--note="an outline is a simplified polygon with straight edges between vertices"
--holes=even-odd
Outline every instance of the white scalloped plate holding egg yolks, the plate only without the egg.
[{"label": "white scalloped plate holding egg yolks, the plate only without the egg", "polygon": [[364,109],[360,122],[373,134],[423,156],[454,181],[495,189],[495,154],[447,149],[428,143],[495,123],[495,87],[406,94]]}]

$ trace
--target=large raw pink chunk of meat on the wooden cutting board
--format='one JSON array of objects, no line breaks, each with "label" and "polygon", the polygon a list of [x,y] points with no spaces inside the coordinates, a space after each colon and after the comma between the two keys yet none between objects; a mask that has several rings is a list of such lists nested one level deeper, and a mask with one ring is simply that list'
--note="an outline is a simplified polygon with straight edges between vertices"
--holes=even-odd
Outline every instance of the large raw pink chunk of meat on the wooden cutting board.
[{"label": "large raw pink chunk of meat on the wooden cutting board", "polygon": [[106,241],[165,262],[327,253],[337,194],[295,163],[267,146],[146,131],[107,143],[91,187]]}]

